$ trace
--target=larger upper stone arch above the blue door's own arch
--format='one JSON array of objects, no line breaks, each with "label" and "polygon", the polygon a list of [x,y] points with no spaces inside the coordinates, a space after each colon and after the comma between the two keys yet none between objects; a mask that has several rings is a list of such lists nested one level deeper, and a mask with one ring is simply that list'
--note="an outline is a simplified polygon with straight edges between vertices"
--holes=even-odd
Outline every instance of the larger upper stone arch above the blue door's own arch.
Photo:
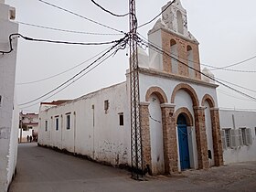
[{"label": "larger upper stone arch above the blue door's own arch", "polygon": [[179,90],[184,90],[187,91],[187,93],[190,95],[192,101],[193,101],[193,106],[194,107],[198,107],[199,106],[199,101],[198,101],[198,97],[197,97],[197,93],[196,91],[190,86],[187,85],[185,83],[180,83],[176,86],[176,88],[174,89],[173,93],[172,93],[172,97],[171,97],[171,103],[175,102],[175,98],[176,98],[176,92]]}]

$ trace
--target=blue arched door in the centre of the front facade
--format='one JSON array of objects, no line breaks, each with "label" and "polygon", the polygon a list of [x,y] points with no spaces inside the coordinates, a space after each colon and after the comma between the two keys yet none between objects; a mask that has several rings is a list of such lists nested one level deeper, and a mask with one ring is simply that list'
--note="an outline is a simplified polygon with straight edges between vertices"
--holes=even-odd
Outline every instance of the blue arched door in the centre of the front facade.
[{"label": "blue arched door in the centre of the front facade", "polygon": [[185,170],[190,168],[186,117],[183,114],[179,114],[176,124],[178,133],[180,168],[181,170]]}]

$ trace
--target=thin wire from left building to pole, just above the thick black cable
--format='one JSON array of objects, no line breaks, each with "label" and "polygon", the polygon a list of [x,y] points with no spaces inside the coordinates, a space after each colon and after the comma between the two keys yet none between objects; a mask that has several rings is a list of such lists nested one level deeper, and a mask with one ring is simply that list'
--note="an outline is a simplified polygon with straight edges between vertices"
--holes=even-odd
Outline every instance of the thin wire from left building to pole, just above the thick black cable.
[{"label": "thin wire from left building to pole, just above the thick black cable", "polygon": [[94,33],[94,32],[84,32],[84,31],[74,31],[74,30],[67,30],[67,29],[61,29],[56,27],[45,27],[45,26],[38,26],[35,24],[28,24],[25,22],[18,21],[18,24],[30,26],[30,27],[38,27],[38,28],[44,28],[44,29],[50,29],[55,31],[61,31],[61,32],[67,32],[67,33],[76,33],[76,34],[82,34],[82,35],[92,35],[92,36],[121,36],[123,34],[114,34],[114,33]]}]

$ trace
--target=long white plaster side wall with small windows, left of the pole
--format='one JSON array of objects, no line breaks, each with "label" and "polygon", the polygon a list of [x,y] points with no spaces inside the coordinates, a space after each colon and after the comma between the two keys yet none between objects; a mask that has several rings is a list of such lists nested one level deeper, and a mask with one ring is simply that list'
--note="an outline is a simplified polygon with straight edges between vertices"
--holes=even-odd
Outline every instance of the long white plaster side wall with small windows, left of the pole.
[{"label": "long white plaster side wall with small windows, left of the pole", "polygon": [[[104,101],[109,101],[105,112]],[[126,82],[85,95],[39,112],[39,144],[55,146],[111,165],[128,164],[130,156],[130,119]],[[94,108],[94,109],[93,109]],[[66,113],[71,115],[71,128],[66,129]],[[119,125],[123,112],[124,126]],[[51,123],[45,132],[45,120],[59,115],[59,131]],[[94,118],[93,118],[94,116]],[[48,134],[50,133],[50,136]]]}]

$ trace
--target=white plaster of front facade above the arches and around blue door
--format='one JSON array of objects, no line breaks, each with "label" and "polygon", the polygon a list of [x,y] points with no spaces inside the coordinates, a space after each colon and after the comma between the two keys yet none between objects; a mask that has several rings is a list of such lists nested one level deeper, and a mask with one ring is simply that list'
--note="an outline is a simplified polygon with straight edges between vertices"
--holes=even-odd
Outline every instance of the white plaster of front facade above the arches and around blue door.
[{"label": "white plaster of front facade above the arches and around blue door", "polygon": [[[178,80],[175,78],[165,78],[163,76],[156,76],[156,75],[147,75],[145,73],[140,73],[140,97],[141,101],[145,101],[146,91],[148,91],[151,87],[159,87],[161,88],[167,97],[168,103],[171,101],[171,95],[176,86],[180,83],[186,83],[190,85],[196,92],[199,101],[199,106],[201,106],[201,101],[205,94],[209,94],[212,96],[215,103],[217,101],[217,94],[216,89],[211,86],[207,86],[205,84],[198,84],[197,82],[190,81],[190,80]],[[176,92],[176,99],[175,103],[176,108],[178,110],[181,107],[186,107],[189,112],[191,112],[192,116],[194,116],[193,110],[193,103],[188,95],[187,91],[177,91]],[[217,105],[217,104],[216,104]],[[218,107],[218,106],[216,106]],[[189,143],[189,155],[190,156],[190,165],[192,168],[198,168],[198,161],[197,161],[197,140],[196,140],[196,130],[195,130],[195,120],[194,126],[187,127],[187,131],[189,133],[188,143]],[[177,135],[177,133],[176,133]],[[178,141],[177,141],[178,142]],[[178,149],[178,144],[177,144]],[[177,150],[178,152],[178,150]],[[178,161],[179,162],[179,161]],[[180,167],[180,165],[179,165]]]}]

